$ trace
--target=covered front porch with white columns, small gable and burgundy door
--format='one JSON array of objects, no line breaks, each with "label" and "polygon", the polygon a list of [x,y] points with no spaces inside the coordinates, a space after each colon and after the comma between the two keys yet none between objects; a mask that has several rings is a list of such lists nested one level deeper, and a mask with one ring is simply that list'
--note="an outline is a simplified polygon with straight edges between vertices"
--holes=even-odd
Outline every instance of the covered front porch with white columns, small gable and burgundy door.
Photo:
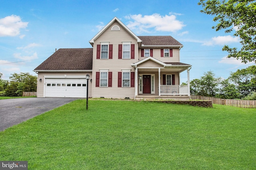
[{"label": "covered front porch with white columns, small gable and burgundy door", "polygon": [[[189,100],[189,70],[184,63],[163,63],[147,57],[132,64],[135,69],[135,99]],[[180,85],[180,73],[187,70],[188,85]]]}]

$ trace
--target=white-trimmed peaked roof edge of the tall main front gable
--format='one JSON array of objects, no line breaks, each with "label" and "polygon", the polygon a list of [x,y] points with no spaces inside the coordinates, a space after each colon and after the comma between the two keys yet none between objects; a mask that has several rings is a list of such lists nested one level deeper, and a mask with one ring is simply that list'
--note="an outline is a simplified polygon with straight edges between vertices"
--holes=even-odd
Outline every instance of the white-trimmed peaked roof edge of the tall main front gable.
[{"label": "white-trimmed peaked roof edge of the tall main front gable", "polygon": [[106,31],[106,29],[108,29],[108,27],[110,27],[110,25],[112,25],[115,21],[117,21],[120,25],[122,25],[122,27],[124,27],[124,29],[126,29],[126,31],[128,31],[128,33],[130,33],[136,40],[137,42],[141,42],[140,38],[137,37],[137,35],[135,35],[126,25],[124,25],[124,23],[122,23],[122,21],[120,21],[116,16],[107,24],[105,25],[90,41],[89,43],[92,45],[94,44],[94,41],[100,36],[102,35],[102,33],[104,33]]}]

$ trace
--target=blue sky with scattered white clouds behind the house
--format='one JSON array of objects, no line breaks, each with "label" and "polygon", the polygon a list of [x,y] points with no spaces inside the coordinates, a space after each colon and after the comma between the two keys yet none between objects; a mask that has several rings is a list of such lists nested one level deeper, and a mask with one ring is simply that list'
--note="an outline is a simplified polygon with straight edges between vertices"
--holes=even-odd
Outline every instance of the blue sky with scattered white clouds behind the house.
[{"label": "blue sky with scattered white clouds behind the house", "polygon": [[[199,0],[0,0],[0,72],[33,72],[60,48],[91,48],[88,41],[115,16],[136,35],[171,35],[184,45],[180,62],[192,64],[190,80],[213,71],[228,78],[246,68],[226,59],[224,45],[240,47],[239,38],[215,31],[213,16],[200,13]],[[181,82],[186,82],[186,71]]]}]

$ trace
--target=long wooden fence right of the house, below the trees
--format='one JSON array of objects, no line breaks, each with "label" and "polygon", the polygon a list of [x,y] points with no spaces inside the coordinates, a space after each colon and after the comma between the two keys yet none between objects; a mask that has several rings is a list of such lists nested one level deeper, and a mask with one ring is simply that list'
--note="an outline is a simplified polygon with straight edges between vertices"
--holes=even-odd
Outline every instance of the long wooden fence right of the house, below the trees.
[{"label": "long wooden fence right of the house, below the trees", "polygon": [[206,96],[190,96],[192,100],[211,100],[213,104],[222,104],[227,106],[256,108],[256,100],[235,100],[235,99],[221,99]]}]

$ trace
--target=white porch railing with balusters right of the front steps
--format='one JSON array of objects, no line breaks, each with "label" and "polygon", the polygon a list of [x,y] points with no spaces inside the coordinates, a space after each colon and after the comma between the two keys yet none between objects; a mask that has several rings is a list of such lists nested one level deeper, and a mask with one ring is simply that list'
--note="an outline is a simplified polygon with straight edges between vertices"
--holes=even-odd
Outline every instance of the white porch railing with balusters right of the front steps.
[{"label": "white porch railing with balusters right of the front steps", "polygon": [[160,85],[160,95],[182,95],[188,96],[188,86]]}]

